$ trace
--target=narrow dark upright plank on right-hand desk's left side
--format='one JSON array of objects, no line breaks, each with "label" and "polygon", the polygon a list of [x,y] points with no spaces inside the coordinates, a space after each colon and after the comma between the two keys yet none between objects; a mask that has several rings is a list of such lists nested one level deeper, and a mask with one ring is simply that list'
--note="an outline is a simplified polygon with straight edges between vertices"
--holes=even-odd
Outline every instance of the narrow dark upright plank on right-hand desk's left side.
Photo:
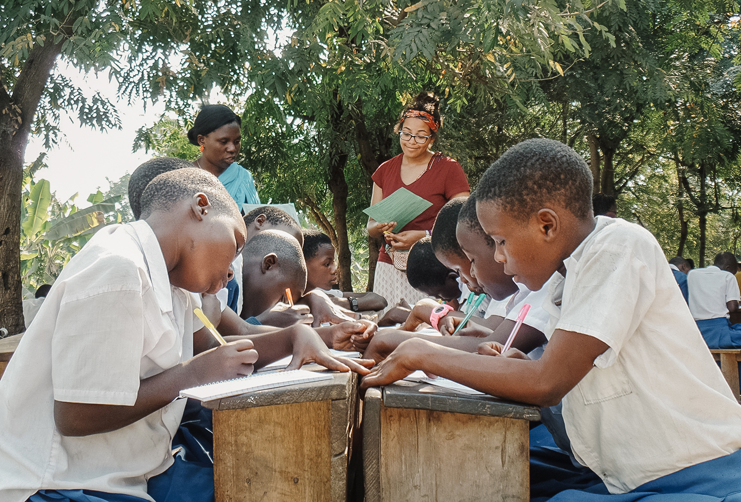
[{"label": "narrow dark upright plank on right-hand desk's left side", "polygon": [[363,400],[363,473],[365,502],[381,502],[381,389],[365,391]]}]

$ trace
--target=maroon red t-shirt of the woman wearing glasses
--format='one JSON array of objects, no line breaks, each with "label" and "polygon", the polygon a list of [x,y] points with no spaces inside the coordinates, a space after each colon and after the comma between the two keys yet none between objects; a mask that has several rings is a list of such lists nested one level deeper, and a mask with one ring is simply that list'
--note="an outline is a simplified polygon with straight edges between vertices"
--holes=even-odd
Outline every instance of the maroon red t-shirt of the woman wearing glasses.
[{"label": "maroon red t-shirt of the woman wearing glasses", "polygon": [[[402,181],[403,157],[404,154],[400,153],[391,160],[385,161],[376,169],[371,178],[381,187],[384,197],[388,197],[399,188],[405,187],[411,193],[415,193],[432,203],[421,215],[406,224],[399,232],[405,230],[432,230],[437,213],[440,212],[445,203],[457,193],[471,191],[468,178],[465,177],[461,164],[438,152],[433,155],[428,170],[418,180],[405,185]],[[378,256],[378,261],[385,261],[388,264],[393,263],[391,256],[383,247]]]}]

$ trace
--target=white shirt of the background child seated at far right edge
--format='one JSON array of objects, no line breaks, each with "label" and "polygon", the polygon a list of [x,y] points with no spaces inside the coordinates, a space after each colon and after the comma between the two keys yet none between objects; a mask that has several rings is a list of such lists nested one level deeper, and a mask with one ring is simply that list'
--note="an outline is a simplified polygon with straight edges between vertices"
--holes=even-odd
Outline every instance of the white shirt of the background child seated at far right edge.
[{"label": "white shirt of the background child seated at far right edge", "polygon": [[728,317],[725,302],[741,300],[736,276],[715,265],[690,270],[687,274],[687,290],[690,312],[696,321]]}]

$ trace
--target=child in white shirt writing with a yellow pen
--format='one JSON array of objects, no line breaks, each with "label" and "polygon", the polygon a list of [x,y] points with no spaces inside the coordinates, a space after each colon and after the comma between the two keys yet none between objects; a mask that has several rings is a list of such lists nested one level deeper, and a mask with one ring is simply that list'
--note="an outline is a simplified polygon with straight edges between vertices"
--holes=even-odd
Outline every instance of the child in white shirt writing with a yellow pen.
[{"label": "child in white shirt writing with a yellow pen", "polygon": [[245,224],[197,168],[159,175],[141,204],[143,220],[104,228],[64,267],[0,380],[3,502],[152,501],[147,479],[173,463],[181,389],[291,352],[294,367],[362,371],[304,326],[193,357],[190,292],[224,287]]}]

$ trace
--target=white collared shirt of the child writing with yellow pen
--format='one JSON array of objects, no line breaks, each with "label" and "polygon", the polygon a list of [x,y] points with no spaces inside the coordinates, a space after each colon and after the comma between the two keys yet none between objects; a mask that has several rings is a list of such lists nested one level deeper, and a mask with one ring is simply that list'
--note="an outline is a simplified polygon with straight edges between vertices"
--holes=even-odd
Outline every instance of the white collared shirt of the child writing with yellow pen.
[{"label": "white collared shirt of the child writing with yellow pen", "polygon": [[170,285],[146,221],[100,230],[62,270],[0,380],[0,501],[39,489],[152,500],[173,463],[185,399],[84,437],[56,429],[54,400],[132,406],[139,381],[193,355],[191,295]]}]

